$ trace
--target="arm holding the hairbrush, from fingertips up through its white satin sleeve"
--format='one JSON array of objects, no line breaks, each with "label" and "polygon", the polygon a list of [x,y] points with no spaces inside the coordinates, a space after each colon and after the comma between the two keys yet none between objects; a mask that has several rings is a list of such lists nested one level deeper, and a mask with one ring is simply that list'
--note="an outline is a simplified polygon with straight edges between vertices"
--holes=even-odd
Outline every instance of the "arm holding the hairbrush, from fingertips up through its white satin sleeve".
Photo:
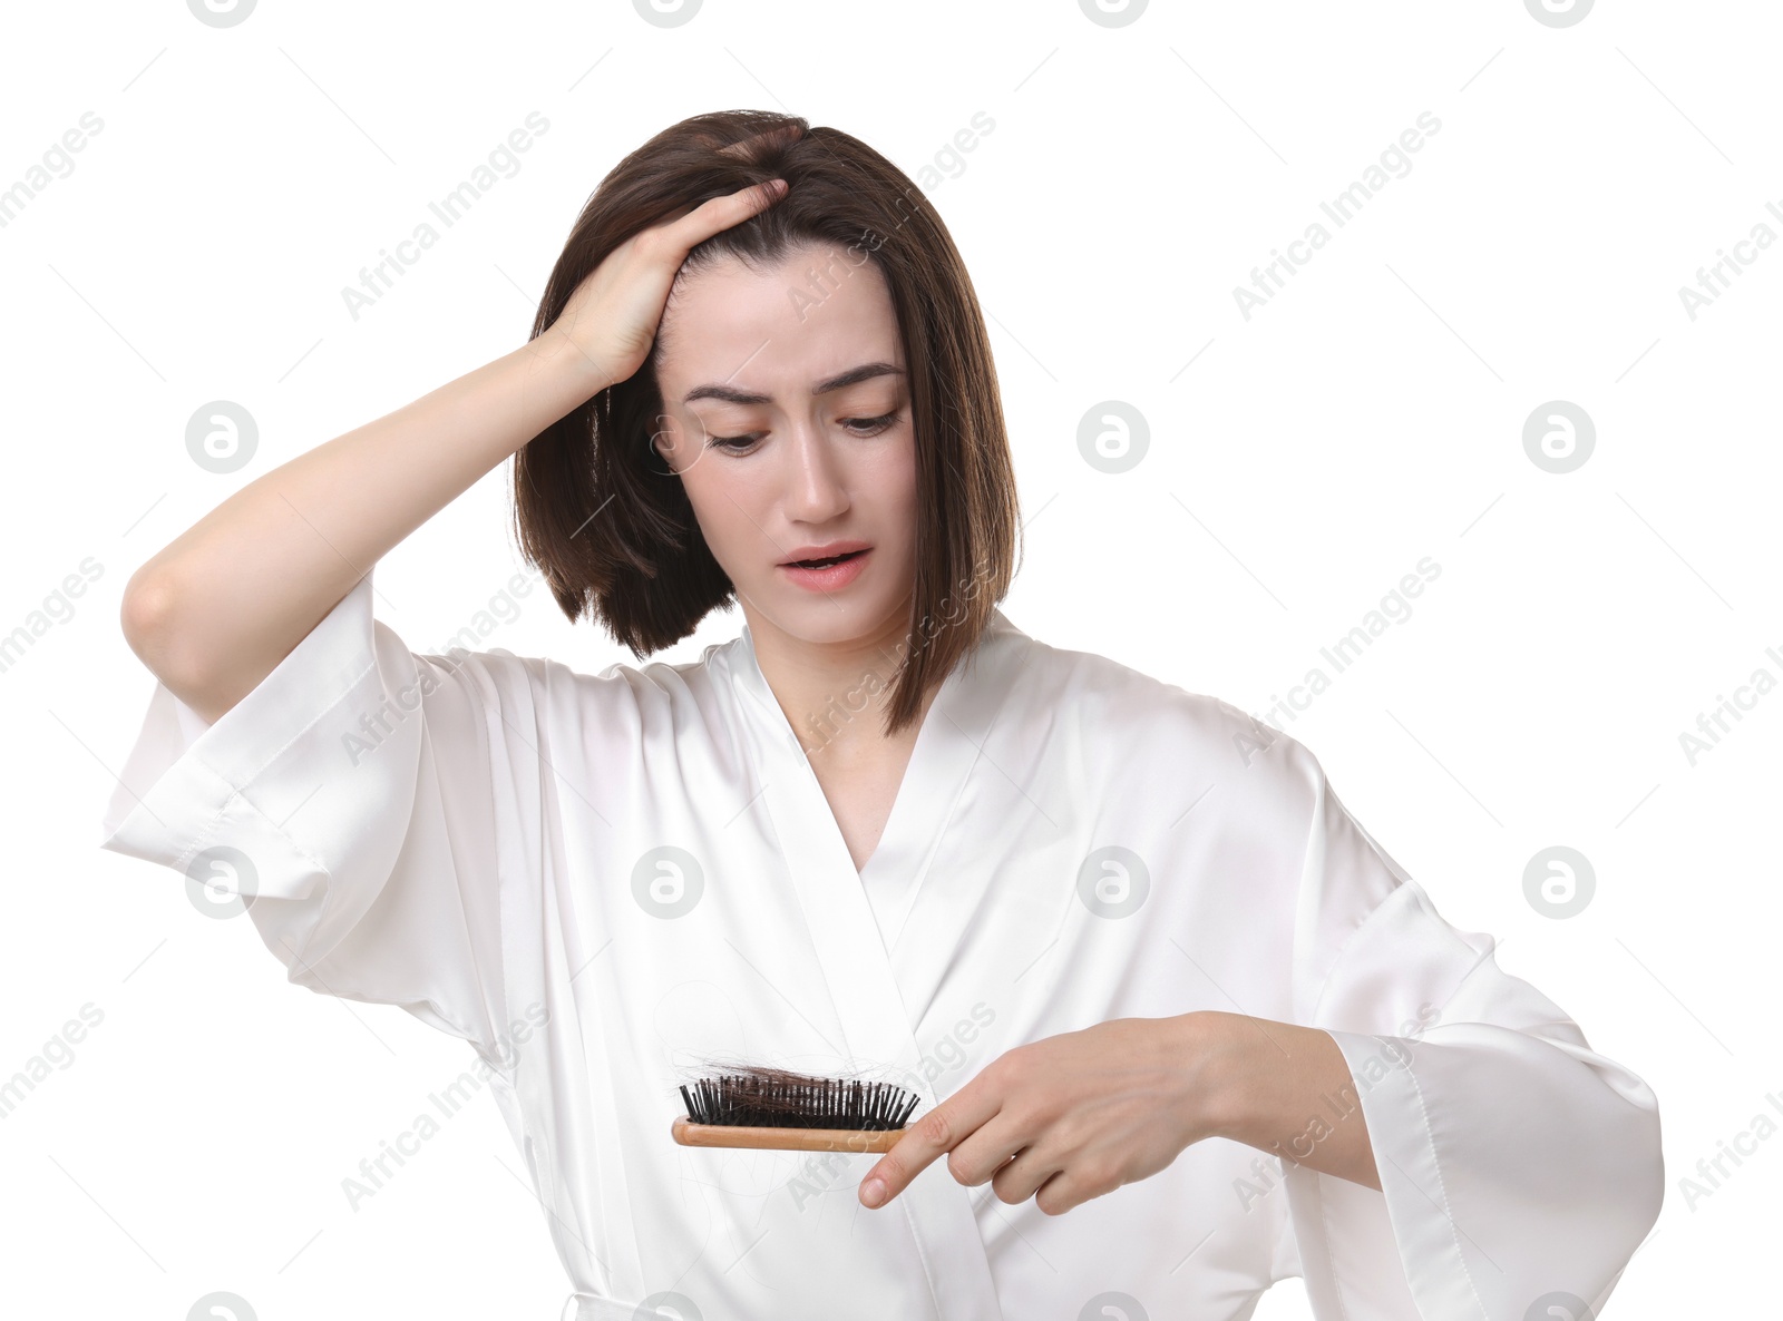
[{"label": "arm holding the hairbrush, from fingertips up through its white satin sleeve", "polygon": [[[1262,861],[1257,948],[1287,950],[1252,1004],[1284,1022],[1120,1018],[1018,1046],[870,1177],[902,1187],[949,1152],[959,1182],[1057,1214],[1225,1136],[1284,1157],[1318,1317],[1599,1309],[1665,1193],[1653,1089],[1450,925],[1302,743],[1221,783],[1227,866]],[[1262,843],[1294,834],[1284,875]]]}]

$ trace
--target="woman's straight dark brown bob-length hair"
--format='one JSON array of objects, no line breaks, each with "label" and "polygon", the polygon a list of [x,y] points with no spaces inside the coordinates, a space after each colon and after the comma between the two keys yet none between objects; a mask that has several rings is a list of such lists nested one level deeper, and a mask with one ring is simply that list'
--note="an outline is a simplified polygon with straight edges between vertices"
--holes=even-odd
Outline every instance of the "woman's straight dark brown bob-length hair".
[{"label": "woman's straight dark brown bob-length hair", "polygon": [[[727,257],[751,269],[813,242],[874,262],[892,292],[916,449],[916,578],[909,642],[886,733],[916,718],[924,693],[970,652],[1015,576],[1015,464],[977,294],[924,193],[836,128],[765,111],[699,114],[665,128],[601,180],[571,230],[533,321],[562,316],[619,244],[727,193],[785,178],[767,210],[697,244],[681,271]],[[859,253],[859,255],[856,255]],[[843,271],[843,278],[845,278]],[[836,280],[834,275],[829,276]],[[813,291],[813,299],[824,296]],[[583,610],[638,658],[688,636],[735,603],[681,478],[654,447],[661,341],[624,382],[547,426],[514,456],[514,517],[571,620]]]}]

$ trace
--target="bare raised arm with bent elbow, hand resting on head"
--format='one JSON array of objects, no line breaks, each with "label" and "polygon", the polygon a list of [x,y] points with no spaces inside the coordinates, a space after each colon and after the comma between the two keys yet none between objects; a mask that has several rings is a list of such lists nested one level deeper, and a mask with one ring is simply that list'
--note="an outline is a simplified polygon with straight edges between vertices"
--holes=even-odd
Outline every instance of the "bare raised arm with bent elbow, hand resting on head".
[{"label": "bare raised arm with bent elbow, hand resting on head", "polygon": [[751,185],[633,235],[531,342],[242,487],[132,574],[130,649],[214,724],[390,547],[644,365],[688,250],[779,196]]}]

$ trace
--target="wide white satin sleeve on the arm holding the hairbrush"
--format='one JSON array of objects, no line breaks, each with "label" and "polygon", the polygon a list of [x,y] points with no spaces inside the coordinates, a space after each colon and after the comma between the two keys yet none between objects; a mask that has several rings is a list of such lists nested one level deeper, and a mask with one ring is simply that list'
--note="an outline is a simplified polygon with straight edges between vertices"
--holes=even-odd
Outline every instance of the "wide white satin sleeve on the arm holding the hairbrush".
[{"label": "wide white satin sleeve on the arm holding the hairbrush", "polygon": [[1503,972],[1491,936],[1448,925],[1284,742],[1312,804],[1294,1014],[1348,1061],[1339,1109],[1360,1105],[1382,1184],[1286,1168],[1314,1314],[1596,1316],[1664,1198],[1653,1091]]}]

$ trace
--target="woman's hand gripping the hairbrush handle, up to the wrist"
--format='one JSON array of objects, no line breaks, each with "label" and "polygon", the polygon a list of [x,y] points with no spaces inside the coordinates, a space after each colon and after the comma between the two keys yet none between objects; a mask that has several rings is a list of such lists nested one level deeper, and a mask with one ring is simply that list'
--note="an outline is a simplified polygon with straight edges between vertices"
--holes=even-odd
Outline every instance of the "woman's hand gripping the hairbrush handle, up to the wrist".
[{"label": "woman's hand gripping the hairbrush handle, up to the wrist", "polygon": [[1227,1048],[1202,1013],[1116,1018],[1016,1046],[913,1123],[861,1180],[861,1202],[888,1203],[947,1152],[961,1184],[990,1180],[1004,1202],[1034,1198],[1059,1216],[1212,1136]]}]

